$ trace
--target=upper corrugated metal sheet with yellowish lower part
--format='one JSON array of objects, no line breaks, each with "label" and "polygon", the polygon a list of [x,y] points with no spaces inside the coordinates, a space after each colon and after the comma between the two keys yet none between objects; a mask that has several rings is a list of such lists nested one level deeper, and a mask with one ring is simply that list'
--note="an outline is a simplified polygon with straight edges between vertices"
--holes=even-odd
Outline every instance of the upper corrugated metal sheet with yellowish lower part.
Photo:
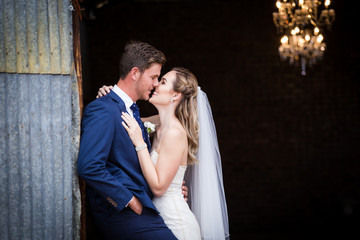
[{"label": "upper corrugated metal sheet with yellowish lower part", "polygon": [[70,74],[69,2],[0,0],[0,72]]}]

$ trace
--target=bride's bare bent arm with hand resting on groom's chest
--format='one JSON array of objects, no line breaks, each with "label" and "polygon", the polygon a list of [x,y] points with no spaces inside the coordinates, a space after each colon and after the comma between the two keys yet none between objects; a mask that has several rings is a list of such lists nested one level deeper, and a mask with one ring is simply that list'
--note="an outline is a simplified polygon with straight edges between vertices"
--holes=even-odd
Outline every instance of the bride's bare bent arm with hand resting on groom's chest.
[{"label": "bride's bare bent arm with hand resting on groom's chest", "polygon": [[[145,142],[136,120],[128,114],[123,114],[122,117],[124,119],[123,126],[129,133],[134,145],[136,147],[144,146]],[[152,162],[146,147],[137,152],[141,170],[154,196],[164,194],[174,179],[181,159],[184,157],[186,143],[186,136],[183,133],[177,129],[169,129],[163,136],[156,166]]]}]

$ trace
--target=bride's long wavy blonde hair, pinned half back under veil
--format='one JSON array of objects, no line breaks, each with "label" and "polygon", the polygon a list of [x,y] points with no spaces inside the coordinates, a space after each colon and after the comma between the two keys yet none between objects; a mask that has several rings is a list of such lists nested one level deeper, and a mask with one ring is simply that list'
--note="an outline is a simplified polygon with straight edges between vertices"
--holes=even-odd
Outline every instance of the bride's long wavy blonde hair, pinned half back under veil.
[{"label": "bride's long wavy blonde hair, pinned half back under veil", "polygon": [[188,139],[188,164],[197,162],[195,154],[199,147],[199,122],[197,110],[198,81],[194,74],[181,67],[171,69],[176,72],[174,91],[182,97],[175,109],[175,116],[186,130]]}]

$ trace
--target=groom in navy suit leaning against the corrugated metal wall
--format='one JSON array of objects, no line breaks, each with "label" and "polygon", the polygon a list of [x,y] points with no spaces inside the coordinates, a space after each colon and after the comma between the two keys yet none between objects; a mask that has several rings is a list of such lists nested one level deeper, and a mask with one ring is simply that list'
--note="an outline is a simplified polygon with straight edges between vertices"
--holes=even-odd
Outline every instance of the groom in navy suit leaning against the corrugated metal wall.
[{"label": "groom in navy suit leaning against the corrugated metal wall", "polygon": [[[139,116],[134,103],[149,99],[165,61],[164,54],[147,43],[128,43],[118,83],[85,108],[78,173],[86,182],[92,220],[103,239],[176,239],[151,201],[136,149],[121,124],[122,112]],[[150,149],[145,129],[143,137]]]}]

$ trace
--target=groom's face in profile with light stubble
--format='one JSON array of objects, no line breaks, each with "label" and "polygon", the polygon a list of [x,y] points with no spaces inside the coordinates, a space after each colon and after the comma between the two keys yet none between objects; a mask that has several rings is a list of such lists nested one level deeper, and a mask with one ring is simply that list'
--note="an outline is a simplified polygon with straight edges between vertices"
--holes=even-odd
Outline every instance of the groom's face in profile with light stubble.
[{"label": "groom's face in profile with light stubble", "polygon": [[148,69],[140,75],[137,81],[136,92],[139,100],[149,100],[151,91],[159,85],[159,76],[161,64],[153,63]]}]

